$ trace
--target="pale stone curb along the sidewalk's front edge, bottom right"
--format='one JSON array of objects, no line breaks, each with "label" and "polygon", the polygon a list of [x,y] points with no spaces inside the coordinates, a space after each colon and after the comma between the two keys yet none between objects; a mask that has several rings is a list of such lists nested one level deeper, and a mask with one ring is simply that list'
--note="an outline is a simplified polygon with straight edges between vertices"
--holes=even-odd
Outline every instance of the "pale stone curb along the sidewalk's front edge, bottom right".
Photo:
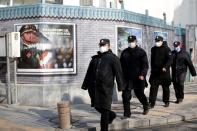
[{"label": "pale stone curb along the sidewalk's front edge, bottom right", "polygon": [[[147,116],[148,117],[148,116]],[[139,119],[139,118],[129,118],[129,119],[116,119],[112,124],[109,125],[109,130],[124,130],[137,127],[150,127],[150,126],[160,126],[173,123],[179,123],[197,118],[197,112],[186,112],[181,115],[169,115],[167,117],[152,117],[150,119]],[[89,127],[81,129],[59,129],[55,131],[100,131],[99,123],[87,123]]]}]

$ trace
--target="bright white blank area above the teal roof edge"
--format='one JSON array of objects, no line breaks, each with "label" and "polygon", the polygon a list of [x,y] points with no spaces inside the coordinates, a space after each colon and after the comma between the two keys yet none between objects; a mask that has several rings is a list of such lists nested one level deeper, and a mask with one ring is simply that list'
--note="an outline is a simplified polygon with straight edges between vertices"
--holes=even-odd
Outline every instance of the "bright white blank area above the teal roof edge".
[{"label": "bright white blank area above the teal roof edge", "polygon": [[171,23],[174,10],[183,0],[125,0],[125,9],[145,14],[149,10],[149,15],[163,19],[163,12],[166,13],[167,22]]}]

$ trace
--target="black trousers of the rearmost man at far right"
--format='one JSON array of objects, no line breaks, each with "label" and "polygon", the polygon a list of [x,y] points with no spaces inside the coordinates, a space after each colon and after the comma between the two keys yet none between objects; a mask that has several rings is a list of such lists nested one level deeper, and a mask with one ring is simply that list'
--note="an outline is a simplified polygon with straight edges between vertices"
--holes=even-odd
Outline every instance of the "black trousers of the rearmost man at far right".
[{"label": "black trousers of the rearmost man at far right", "polygon": [[184,84],[180,82],[173,82],[176,99],[184,99]]}]

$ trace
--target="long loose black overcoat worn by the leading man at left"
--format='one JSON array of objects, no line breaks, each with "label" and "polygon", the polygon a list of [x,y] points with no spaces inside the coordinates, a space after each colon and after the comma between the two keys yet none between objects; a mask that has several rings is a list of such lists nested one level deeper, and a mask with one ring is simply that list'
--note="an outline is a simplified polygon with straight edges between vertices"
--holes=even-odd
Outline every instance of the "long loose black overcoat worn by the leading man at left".
[{"label": "long loose black overcoat worn by the leading man at left", "polygon": [[119,58],[111,50],[92,57],[82,89],[88,89],[91,106],[111,109],[114,78],[118,90],[124,89],[122,69]]}]

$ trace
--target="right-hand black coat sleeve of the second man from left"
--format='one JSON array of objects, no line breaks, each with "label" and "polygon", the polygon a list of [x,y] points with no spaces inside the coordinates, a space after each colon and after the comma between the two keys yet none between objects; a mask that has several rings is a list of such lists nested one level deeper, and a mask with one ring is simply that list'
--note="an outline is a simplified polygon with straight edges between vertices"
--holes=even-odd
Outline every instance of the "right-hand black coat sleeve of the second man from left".
[{"label": "right-hand black coat sleeve of the second man from left", "polygon": [[142,55],[142,58],[141,58],[141,63],[142,63],[142,67],[141,67],[141,72],[140,72],[140,76],[146,76],[147,75],[147,72],[148,72],[148,68],[149,68],[149,65],[148,65],[148,58],[147,58],[147,55],[146,55],[146,52],[143,51],[143,55]]}]

